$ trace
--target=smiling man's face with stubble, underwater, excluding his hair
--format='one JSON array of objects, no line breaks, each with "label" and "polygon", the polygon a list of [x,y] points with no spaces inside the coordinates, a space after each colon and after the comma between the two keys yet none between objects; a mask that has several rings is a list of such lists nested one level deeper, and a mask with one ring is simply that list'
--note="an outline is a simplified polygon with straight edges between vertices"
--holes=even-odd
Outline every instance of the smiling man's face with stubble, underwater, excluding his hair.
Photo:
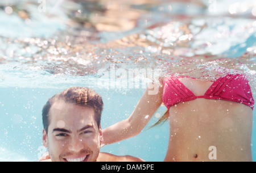
[{"label": "smiling man's face with stubble, underwater, excluding his hair", "polygon": [[49,110],[48,134],[43,130],[43,145],[52,161],[94,162],[100,153],[101,128],[90,107],[58,100]]}]

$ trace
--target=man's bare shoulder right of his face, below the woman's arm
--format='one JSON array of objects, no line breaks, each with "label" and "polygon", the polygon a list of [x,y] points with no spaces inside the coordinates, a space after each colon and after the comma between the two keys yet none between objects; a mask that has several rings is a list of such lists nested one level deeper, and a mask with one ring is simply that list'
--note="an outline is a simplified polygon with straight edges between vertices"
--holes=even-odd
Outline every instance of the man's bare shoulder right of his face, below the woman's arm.
[{"label": "man's bare shoulder right of his face, below the woman's arm", "polygon": [[97,162],[144,162],[143,159],[131,155],[113,155],[110,153],[100,153]]}]

